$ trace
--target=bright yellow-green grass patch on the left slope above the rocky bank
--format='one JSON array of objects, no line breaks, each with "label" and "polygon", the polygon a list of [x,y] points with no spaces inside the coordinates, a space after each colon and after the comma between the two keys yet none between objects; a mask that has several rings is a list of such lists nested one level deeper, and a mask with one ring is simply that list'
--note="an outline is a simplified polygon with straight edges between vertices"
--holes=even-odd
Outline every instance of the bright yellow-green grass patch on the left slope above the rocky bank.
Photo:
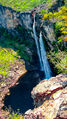
[{"label": "bright yellow-green grass patch on the left slope above the rocky bank", "polygon": [[0,74],[7,76],[9,74],[10,65],[15,63],[16,60],[16,52],[0,47]]}]

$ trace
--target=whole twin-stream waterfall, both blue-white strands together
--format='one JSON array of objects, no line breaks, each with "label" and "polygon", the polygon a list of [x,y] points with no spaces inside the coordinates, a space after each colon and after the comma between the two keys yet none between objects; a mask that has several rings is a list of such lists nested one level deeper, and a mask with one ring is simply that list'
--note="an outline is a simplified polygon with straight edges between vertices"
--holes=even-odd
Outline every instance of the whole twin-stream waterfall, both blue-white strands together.
[{"label": "whole twin-stream waterfall, both blue-white strands together", "polygon": [[40,32],[40,38],[38,39],[36,35],[36,29],[35,29],[35,15],[34,15],[34,23],[33,23],[33,33],[34,33],[34,39],[37,47],[37,53],[40,61],[40,67],[41,71],[44,72],[45,79],[49,79],[51,77],[51,69],[50,65],[46,56],[46,50],[44,47],[43,39],[42,39],[42,34]]}]

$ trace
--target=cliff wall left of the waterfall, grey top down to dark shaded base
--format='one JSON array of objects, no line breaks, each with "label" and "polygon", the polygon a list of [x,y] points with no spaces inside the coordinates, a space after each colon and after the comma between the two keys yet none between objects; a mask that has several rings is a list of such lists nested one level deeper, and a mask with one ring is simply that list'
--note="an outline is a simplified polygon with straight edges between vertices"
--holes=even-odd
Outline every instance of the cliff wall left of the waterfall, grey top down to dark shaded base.
[{"label": "cliff wall left of the waterfall, grey top down to dark shaded base", "polygon": [[[16,37],[17,39],[19,39],[18,42],[21,42],[18,49],[20,49],[20,47],[22,48],[22,50],[23,48],[25,49],[26,56],[24,56],[24,54],[21,58],[25,60],[27,70],[37,69],[38,65],[38,57],[36,53],[32,25],[32,12],[20,13],[14,11],[9,7],[0,5],[0,28],[3,27],[7,31],[7,33],[10,33],[12,38]],[[0,38],[2,37],[4,36],[0,35]],[[36,65],[34,66],[34,64]]]}]

